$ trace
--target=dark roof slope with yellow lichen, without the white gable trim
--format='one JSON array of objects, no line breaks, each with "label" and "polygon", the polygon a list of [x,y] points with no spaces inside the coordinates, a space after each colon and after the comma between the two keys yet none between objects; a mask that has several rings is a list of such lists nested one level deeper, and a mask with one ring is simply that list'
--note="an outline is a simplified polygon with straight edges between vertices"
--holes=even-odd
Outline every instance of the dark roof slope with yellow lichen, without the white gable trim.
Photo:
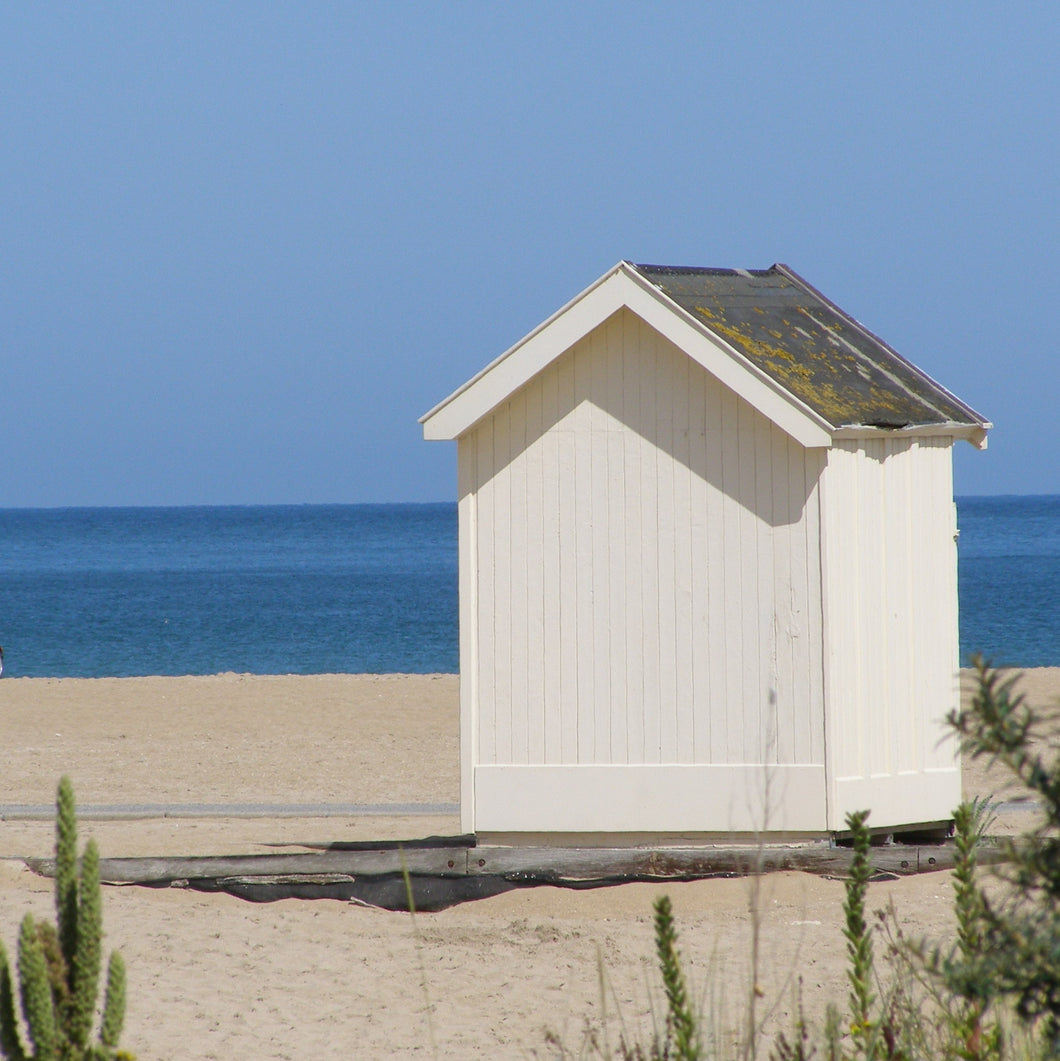
[{"label": "dark roof slope with yellow lichen, without the white gable trim", "polygon": [[834,428],[986,420],[786,265],[631,265]]}]

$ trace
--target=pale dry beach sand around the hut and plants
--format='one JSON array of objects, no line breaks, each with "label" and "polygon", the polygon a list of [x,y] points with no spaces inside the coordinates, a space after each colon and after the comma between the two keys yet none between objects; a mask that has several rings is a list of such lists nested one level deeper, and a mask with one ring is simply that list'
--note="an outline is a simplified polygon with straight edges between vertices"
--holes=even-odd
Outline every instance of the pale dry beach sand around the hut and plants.
[{"label": "pale dry beach sand around the hut and plants", "polygon": [[[1060,668],[1028,672],[1041,705]],[[67,772],[79,802],[455,803],[457,680],[314,676],[0,681],[0,804],[50,803]],[[966,768],[966,789],[1000,778]],[[1018,828],[1012,812],[1003,828]],[[234,854],[272,843],[455,833],[455,816],[152,818],[83,821],[104,855]],[[0,937],[27,911],[50,916],[52,885],[27,870],[50,822],[0,821]],[[752,882],[536,888],[440,914],[390,914],[330,900],[255,905],[181,889],[107,888],[106,945],[128,968],[124,1044],[141,1061],[205,1058],[550,1057],[545,1030],[577,1053],[586,1019],[615,1038],[658,1011],[650,905],[668,892],[680,946],[708,1012],[744,1012]],[[846,997],[842,885],[778,873],[759,883],[760,1011],[789,1027],[796,980],[806,1009]],[[950,881],[872,885],[906,930],[944,933]],[[615,1015],[619,1011],[621,1016]]]}]

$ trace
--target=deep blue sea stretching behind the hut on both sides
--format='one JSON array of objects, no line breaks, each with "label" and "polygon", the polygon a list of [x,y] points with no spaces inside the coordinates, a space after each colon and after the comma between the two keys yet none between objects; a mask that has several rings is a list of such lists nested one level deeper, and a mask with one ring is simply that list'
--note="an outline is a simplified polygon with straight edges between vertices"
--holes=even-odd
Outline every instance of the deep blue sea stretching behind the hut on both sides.
[{"label": "deep blue sea stretching behind the hut on both sides", "polygon": [[[960,657],[1060,665],[1060,495],[958,498]],[[7,677],[455,673],[456,506],[0,508]]]}]

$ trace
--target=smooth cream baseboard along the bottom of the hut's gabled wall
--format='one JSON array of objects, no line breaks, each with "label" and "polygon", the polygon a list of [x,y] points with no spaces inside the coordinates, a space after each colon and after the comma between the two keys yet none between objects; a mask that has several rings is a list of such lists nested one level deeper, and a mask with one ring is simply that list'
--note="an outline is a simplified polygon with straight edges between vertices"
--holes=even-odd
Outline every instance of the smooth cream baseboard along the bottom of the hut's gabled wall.
[{"label": "smooth cream baseboard along the bottom of the hut's gabled wall", "polygon": [[479,766],[476,832],[820,832],[823,766]]}]

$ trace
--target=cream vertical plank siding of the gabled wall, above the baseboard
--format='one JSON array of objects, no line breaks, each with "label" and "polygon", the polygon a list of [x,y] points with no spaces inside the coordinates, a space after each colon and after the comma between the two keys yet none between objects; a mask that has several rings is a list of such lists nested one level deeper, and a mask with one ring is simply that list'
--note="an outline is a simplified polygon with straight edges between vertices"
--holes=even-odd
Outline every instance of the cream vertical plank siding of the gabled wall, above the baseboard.
[{"label": "cream vertical plank siding of the gabled wall, above the baseboard", "polygon": [[468,442],[477,763],[823,763],[820,452],[628,311]]}]

